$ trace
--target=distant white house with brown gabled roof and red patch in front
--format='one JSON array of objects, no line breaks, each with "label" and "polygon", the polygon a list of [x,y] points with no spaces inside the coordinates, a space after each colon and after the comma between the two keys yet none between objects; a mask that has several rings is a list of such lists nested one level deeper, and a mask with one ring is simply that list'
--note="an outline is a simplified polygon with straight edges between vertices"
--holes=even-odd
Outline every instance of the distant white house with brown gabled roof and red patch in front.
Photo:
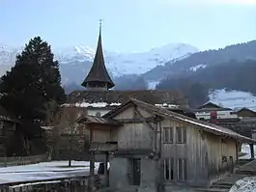
[{"label": "distant white house with brown gabled roof and red patch in front", "polygon": [[234,122],[239,121],[239,117],[231,108],[224,108],[213,102],[206,104],[193,110],[198,120],[215,122]]}]

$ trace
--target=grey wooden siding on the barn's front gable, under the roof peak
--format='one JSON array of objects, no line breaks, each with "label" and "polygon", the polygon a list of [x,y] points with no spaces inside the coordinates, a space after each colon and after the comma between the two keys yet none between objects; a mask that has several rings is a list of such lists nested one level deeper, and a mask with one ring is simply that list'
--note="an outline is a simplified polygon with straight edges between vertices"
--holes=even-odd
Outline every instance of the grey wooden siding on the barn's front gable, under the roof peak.
[{"label": "grey wooden siding on the barn's front gable, under the roof peak", "polygon": [[[151,114],[137,108],[143,117],[150,117]],[[115,117],[116,120],[134,118],[135,109],[129,107]],[[126,123],[112,133],[118,140],[120,150],[152,150],[154,130],[147,123]]]}]

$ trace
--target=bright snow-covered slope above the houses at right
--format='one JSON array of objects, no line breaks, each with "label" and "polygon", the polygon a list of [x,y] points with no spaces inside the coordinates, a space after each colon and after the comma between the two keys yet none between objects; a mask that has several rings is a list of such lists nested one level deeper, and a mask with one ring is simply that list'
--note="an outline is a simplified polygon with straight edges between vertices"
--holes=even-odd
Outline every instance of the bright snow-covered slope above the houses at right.
[{"label": "bright snow-covered slope above the houses at right", "polygon": [[210,94],[210,101],[232,109],[247,107],[256,111],[256,96],[246,92],[216,90]]}]

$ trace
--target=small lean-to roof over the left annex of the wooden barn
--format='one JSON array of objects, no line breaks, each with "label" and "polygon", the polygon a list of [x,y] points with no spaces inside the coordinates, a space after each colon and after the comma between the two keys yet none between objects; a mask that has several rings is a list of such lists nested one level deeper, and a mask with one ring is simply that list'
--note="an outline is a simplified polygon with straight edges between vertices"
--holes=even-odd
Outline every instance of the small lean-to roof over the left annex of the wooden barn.
[{"label": "small lean-to roof over the left annex of the wooden barn", "polygon": [[118,123],[112,119],[100,118],[96,116],[80,116],[76,121],[76,123],[100,123],[100,124],[111,124],[111,125],[122,125],[122,123]]}]

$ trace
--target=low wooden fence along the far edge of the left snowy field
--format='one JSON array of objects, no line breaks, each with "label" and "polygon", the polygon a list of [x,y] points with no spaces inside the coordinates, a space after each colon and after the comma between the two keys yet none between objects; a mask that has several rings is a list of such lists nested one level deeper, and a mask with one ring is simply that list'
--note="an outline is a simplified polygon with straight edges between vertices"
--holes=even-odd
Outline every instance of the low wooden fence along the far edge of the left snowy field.
[{"label": "low wooden fence along the far edge of the left snowy field", "polygon": [[28,165],[32,163],[49,161],[48,154],[41,154],[35,156],[12,156],[0,157],[0,167]]}]

